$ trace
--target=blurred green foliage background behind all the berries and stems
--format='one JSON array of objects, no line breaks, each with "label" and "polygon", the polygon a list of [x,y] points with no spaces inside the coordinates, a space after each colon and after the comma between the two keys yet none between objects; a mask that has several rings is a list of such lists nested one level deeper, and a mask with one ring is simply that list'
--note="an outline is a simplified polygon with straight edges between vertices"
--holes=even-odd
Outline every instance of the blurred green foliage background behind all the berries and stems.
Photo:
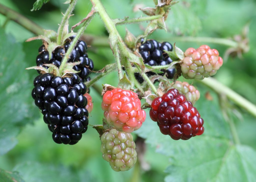
[{"label": "blurred green foliage background behind all the berries and stems", "polygon": [[[0,3],[24,15],[44,29],[57,31],[61,12],[68,5],[64,0],[50,0],[38,11],[30,11],[35,0],[2,0]],[[138,8],[154,7],[153,1],[102,0],[111,18],[144,16]],[[78,1],[70,25],[76,24],[90,12],[90,1]],[[186,0],[174,5],[166,20],[167,32],[156,30],[148,39],[176,42],[182,50],[208,44],[221,56],[229,48],[222,44],[188,41],[187,36],[232,38],[249,25],[250,51],[243,57],[229,56],[215,76],[243,97],[256,104],[256,2],[253,0]],[[135,36],[143,34],[147,23],[118,26],[121,36],[125,27]],[[256,181],[256,121],[235,105],[223,100],[222,107],[216,93],[199,82],[194,85],[201,93],[196,103],[205,120],[205,133],[188,141],[174,141],[163,136],[149,116],[134,134],[147,138],[146,144],[138,138],[139,160],[127,172],[114,172],[100,153],[96,130],[89,127],[76,145],[58,145],[43,122],[42,115],[30,96],[36,71],[34,66],[41,41],[25,42],[34,34],[14,21],[6,21],[0,14],[0,181],[13,176],[17,181]],[[75,29],[77,30],[77,29]],[[96,16],[85,32],[91,47],[89,57],[95,70],[113,63],[108,46],[108,32]],[[117,72],[102,78],[91,88],[94,108],[90,124],[101,124],[101,84],[117,86]],[[93,77],[93,75],[91,76]],[[185,81],[181,78],[180,80]],[[98,88],[98,89],[97,89]],[[213,100],[207,100],[210,93]],[[224,104],[224,107],[223,107]],[[225,109],[224,109],[225,108]],[[147,113],[148,113],[147,109]],[[222,114],[228,113],[228,119]],[[241,144],[234,145],[228,120],[235,123]],[[140,141],[140,142],[139,142]],[[145,151],[143,148],[145,147]],[[17,171],[6,173],[7,171]]]}]

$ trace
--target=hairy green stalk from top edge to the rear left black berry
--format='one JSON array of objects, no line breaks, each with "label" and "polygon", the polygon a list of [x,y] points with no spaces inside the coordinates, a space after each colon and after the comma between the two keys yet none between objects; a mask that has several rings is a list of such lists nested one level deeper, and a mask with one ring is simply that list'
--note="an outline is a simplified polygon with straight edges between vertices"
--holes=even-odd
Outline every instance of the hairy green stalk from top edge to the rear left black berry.
[{"label": "hairy green stalk from top edge to the rear left black berry", "polygon": [[61,20],[61,23],[60,23],[60,26],[59,26],[59,29],[58,29],[58,37],[57,37],[57,44],[60,45],[61,44],[61,40],[63,38],[63,30],[65,28],[65,25],[73,11],[73,9],[75,8],[75,5],[77,3],[77,0],[73,0],[71,1],[71,3],[69,4],[69,7],[68,9],[66,10],[62,20]]}]

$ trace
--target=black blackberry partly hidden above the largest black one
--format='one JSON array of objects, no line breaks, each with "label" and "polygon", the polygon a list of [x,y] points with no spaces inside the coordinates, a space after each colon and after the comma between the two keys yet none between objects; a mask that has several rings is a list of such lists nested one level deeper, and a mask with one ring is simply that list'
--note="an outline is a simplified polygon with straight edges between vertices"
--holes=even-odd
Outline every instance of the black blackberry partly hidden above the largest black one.
[{"label": "black blackberry partly hidden above the largest black one", "polygon": [[[47,66],[44,66],[44,64],[54,64],[59,68],[61,64],[61,60],[65,56],[65,53],[68,50],[73,38],[74,37],[70,37],[69,39],[67,39],[64,46],[56,48],[52,52],[52,56],[50,60],[49,60],[49,52],[47,51],[47,48],[45,47],[45,45],[40,46],[38,50],[39,55],[36,58],[37,66],[48,68]],[[68,62],[78,62],[78,61],[81,61],[81,63],[79,65],[74,66],[73,69],[76,71],[80,71],[78,75],[83,82],[89,81],[91,79],[89,75],[91,74],[94,68],[94,65],[93,65],[92,59],[88,58],[87,44],[82,40],[80,40],[77,46],[72,50],[70,58],[68,60]],[[38,73],[40,72],[38,71]]]}]

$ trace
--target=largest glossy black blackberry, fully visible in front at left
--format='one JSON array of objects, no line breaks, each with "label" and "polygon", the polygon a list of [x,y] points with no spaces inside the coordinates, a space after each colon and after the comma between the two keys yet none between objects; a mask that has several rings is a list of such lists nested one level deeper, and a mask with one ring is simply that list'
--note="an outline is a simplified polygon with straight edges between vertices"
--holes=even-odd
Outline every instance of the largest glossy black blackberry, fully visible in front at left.
[{"label": "largest glossy black blackberry, fully visible in front at left", "polygon": [[61,78],[45,73],[34,79],[32,97],[56,143],[76,144],[86,132],[86,89],[77,74]]}]

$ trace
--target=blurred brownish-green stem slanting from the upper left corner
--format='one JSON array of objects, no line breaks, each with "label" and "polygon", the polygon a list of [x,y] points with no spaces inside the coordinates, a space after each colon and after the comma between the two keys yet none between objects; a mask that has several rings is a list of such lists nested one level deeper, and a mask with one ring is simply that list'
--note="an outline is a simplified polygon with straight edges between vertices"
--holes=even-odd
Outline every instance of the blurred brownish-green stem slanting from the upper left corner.
[{"label": "blurred brownish-green stem slanting from the upper left corner", "polygon": [[2,4],[0,4],[0,13],[6,16],[8,19],[20,24],[30,32],[33,32],[34,34],[44,34],[43,29],[40,26],[36,25],[36,23]]}]

